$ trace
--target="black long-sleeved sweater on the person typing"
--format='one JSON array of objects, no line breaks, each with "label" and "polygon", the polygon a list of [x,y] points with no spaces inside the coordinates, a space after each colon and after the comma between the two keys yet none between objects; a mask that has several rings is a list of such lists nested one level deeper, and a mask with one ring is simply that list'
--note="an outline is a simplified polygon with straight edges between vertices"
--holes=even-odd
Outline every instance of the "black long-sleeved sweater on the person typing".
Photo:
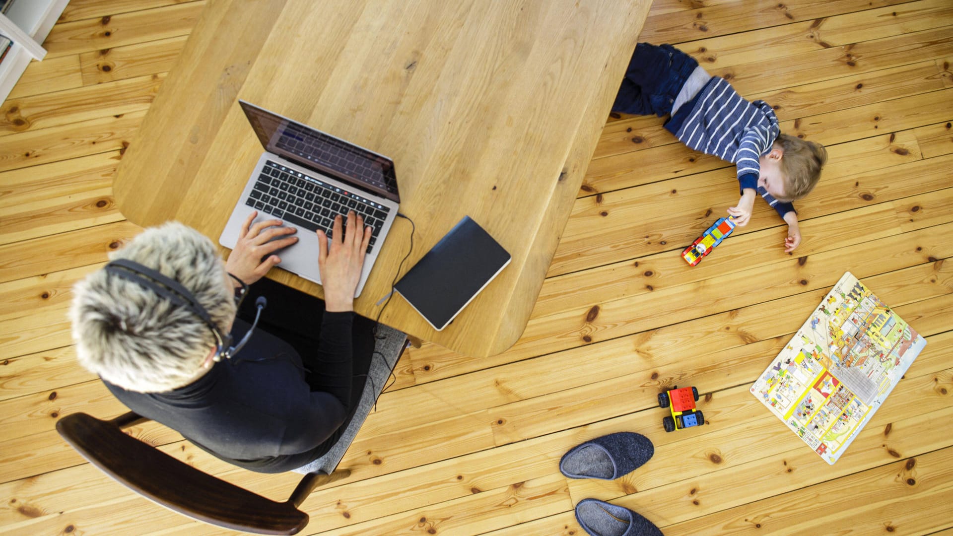
[{"label": "black long-sleeved sweater on the person typing", "polygon": [[[218,458],[265,472],[289,470],[326,451],[330,445],[322,445],[354,409],[353,321],[350,312],[323,314],[310,372],[291,344],[259,326],[232,360],[184,387],[136,393],[106,385],[132,411]],[[248,327],[235,319],[233,340]]]}]

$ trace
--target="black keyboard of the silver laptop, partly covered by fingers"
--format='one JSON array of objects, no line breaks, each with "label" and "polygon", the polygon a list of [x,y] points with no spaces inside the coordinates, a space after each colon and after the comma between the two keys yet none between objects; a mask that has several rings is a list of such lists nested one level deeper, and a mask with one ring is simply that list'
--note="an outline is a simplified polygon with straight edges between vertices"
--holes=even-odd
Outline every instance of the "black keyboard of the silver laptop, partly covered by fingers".
[{"label": "black keyboard of the silver laptop, partly covered by fingers", "polygon": [[384,220],[391,212],[389,207],[371,199],[271,160],[265,162],[245,204],[310,231],[321,229],[329,238],[334,233],[335,216],[341,215],[346,219],[348,211],[355,211],[355,214],[364,216],[364,225],[374,230],[367,253],[374,249]]}]

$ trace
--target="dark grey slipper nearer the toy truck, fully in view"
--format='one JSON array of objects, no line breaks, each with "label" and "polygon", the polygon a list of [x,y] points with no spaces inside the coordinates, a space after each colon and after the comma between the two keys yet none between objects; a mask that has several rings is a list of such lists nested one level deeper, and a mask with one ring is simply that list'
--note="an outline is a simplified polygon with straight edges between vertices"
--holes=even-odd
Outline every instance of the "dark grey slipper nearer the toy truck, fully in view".
[{"label": "dark grey slipper nearer the toy truck, fully in view", "polygon": [[648,438],[616,432],[574,446],[559,460],[559,472],[569,478],[614,480],[631,473],[655,454]]}]

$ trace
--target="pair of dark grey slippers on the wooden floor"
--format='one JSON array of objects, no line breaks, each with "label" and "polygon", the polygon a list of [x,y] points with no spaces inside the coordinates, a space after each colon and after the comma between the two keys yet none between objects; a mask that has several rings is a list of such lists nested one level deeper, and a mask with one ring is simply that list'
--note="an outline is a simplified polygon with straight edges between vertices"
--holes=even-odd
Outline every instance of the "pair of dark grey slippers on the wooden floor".
[{"label": "pair of dark grey slippers on the wooden floor", "polygon": [[[559,460],[559,472],[574,479],[615,480],[653,454],[655,446],[645,436],[617,432],[574,446]],[[592,536],[662,536],[658,526],[636,512],[597,499],[579,501],[576,520]]]}]

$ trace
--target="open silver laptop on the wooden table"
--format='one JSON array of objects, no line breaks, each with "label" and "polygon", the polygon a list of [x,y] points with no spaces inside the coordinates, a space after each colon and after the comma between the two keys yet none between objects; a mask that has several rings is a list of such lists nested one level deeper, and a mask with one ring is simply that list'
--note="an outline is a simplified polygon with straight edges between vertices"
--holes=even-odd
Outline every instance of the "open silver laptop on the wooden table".
[{"label": "open silver laptop on the wooden table", "polygon": [[357,283],[355,298],[360,296],[397,216],[400,196],[394,161],[243,100],[238,102],[265,153],[258,158],[219,243],[234,249],[242,223],[253,211],[258,211],[255,221],[282,219],[298,228],[298,241],[278,252],[279,267],[320,284],[314,231],[322,229],[333,236],[335,216],[346,218],[353,210],[364,216],[365,225],[374,228]]}]

